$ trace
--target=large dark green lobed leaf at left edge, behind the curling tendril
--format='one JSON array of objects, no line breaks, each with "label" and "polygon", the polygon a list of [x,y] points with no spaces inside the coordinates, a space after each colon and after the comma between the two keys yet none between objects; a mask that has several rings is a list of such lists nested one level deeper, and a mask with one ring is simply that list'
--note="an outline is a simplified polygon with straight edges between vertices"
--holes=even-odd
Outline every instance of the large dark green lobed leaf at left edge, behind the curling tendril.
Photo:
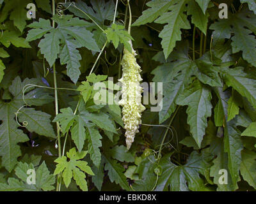
[{"label": "large dark green lobed leaf at left edge, behind the curling tendril", "polygon": [[[24,105],[22,88],[27,84],[38,84],[38,82],[35,79],[29,80],[28,78],[21,82],[20,77],[16,77],[9,87],[9,91],[13,95],[12,101],[9,103],[0,101],[0,120],[2,121],[0,125],[0,156],[2,156],[3,166],[8,171],[13,170],[15,164],[17,164],[17,157],[21,155],[20,147],[17,143],[29,140],[28,136],[25,135],[21,129],[18,129],[19,125],[17,121],[15,121],[15,113]],[[28,89],[25,94],[24,99],[29,99],[31,102],[30,105],[34,105],[34,103],[37,103],[38,98],[31,97],[29,91],[34,92],[35,95],[32,96],[37,96],[38,92],[42,93],[42,89]],[[52,97],[46,96],[40,103],[45,104],[51,101]],[[27,120],[28,126],[25,126],[25,128],[29,131],[34,131],[39,135],[48,136],[50,138],[56,138],[54,130],[52,129],[51,120],[49,119],[51,115],[35,111],[34,108],[23,108],[17,114],[17,117],[20,122]],[[22,124],[20,126],[22,126]]]}]

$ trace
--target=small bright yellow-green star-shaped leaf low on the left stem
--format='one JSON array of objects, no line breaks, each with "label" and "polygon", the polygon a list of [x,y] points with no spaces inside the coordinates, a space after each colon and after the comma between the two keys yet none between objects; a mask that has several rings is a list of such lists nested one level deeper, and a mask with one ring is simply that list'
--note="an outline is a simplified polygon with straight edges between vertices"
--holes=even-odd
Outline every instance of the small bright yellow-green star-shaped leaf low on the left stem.
[{"label": "small bright yellow-green star-shaped leaf low on the left stem", "polygon": [[86,175],[84,173],[88,173],[89,175],[94,175],[90,166],[87,165],[86,161],[81,161],[87,154],[87,151],[76,152],[76,147],[72,148],[67,152],[67,157],[69,161],[67,161],[67,157],[62,156],[58,159],[55,159],[54,162],[58,163],[56,165],[56,169],[54,171],[54,175],[58,175],[62,172],[61,176],[63,177],[65,186],[68,187],[71,179],[74,178],[76,184],[83,191],[88,191]]}]

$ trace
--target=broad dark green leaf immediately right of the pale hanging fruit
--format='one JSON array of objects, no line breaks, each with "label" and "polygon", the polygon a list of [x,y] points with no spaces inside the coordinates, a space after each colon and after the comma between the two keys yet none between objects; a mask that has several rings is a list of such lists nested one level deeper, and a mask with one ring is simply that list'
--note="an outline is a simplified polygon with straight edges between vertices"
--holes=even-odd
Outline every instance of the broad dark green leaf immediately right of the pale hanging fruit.
[{"label": "broad dark green leaf immediately right of the pale hanging fruit", "polygon": [[[179,49],[172,52],[167,62],[152,71],[153,82],[163,83],[163,108],[159,112],[159,124],[167,120],[175,111],[175,100],[184,91],[195,73],[195,66],[188,57],[188,42],[177,43]],[[172,62],[174,61],[174,62]]]}]

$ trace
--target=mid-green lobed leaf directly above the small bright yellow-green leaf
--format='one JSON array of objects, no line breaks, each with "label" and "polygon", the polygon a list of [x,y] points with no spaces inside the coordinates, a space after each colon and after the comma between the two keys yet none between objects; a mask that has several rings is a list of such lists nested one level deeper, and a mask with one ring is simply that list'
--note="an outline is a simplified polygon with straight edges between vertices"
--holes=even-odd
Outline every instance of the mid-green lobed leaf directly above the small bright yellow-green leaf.
[{"label": "mid-green lobed leaf directly above the small bright yellow-green leaf", "polygon": [[88,141],[88,153],[95,166],[100,165],[100,149],[102,146],[102,136],[97,129],[104,129],[111,133],[116,133],[116,128],[106,113],[90,113],[86,110],[74,115],[71,108],[61,109],[61,113],[56,115],[52,122],[60,122],[61,131],[63,134],[71,129],[72,140],[76,144],[79,152],[83,149],[84,141]]}]

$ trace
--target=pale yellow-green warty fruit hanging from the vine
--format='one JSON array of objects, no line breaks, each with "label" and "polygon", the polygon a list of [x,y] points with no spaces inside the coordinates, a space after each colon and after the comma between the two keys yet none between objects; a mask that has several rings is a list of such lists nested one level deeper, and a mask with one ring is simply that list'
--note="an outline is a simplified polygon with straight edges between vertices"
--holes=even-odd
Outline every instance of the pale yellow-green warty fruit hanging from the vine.
[{"label": "pale yellow-green warty fruit hanging from the vine", "polygon": [[[132,43],[129,41],[132,48]],[[122,83],[122,99],[119,101],[119,105],[122,108],[122,119],[125,128],[126,146],[130,149],[136,133],[139,132],[141,124],[141,113],[145,110],[145,106],[141,104],[141,92],[143,88],[140,87],[142,80],[140,76],[140,66],[136,62],[136,52],[132,48],[132,52],[129,52],[124,48],[124,55],[122,58],[122,70],[123,75],[120,78]]]}]

